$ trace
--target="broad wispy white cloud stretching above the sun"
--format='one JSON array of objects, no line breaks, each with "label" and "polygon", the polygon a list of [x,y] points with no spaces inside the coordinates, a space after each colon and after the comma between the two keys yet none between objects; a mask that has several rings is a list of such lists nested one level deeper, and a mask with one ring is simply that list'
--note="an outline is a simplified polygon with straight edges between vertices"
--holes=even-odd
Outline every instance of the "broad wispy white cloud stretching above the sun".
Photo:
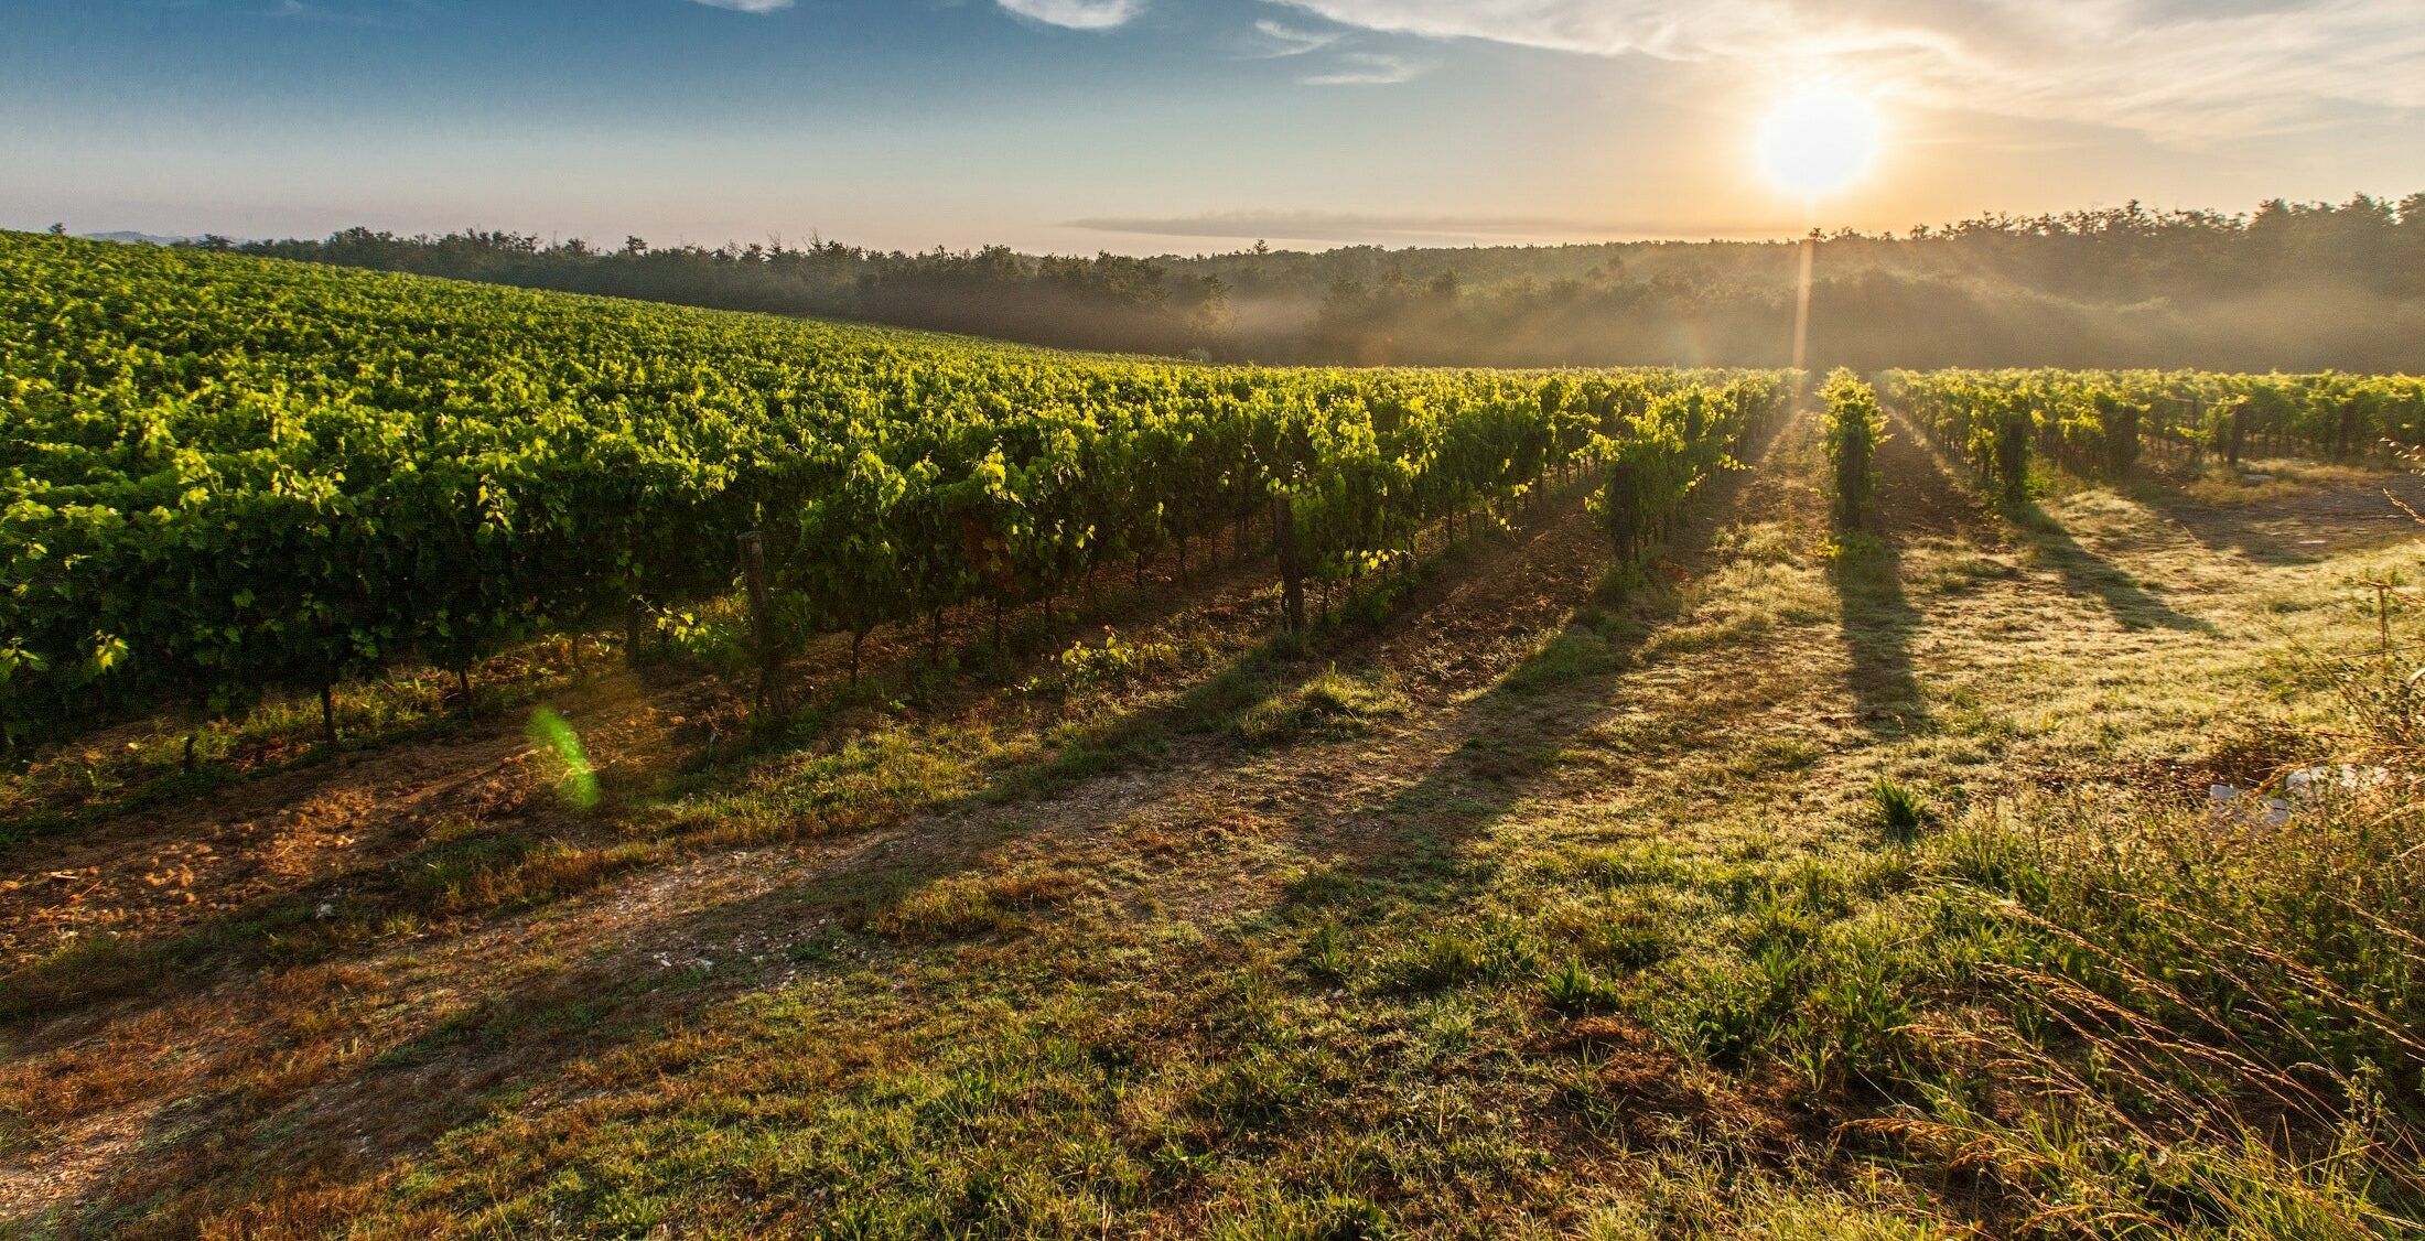
[{"label": "broad wispy white cloud stretching above the sun", "polygon": [[2418,0],[1273,2],[1428,39],[1843,73],[1923,104],[2187,141],[2425,109]]}]

